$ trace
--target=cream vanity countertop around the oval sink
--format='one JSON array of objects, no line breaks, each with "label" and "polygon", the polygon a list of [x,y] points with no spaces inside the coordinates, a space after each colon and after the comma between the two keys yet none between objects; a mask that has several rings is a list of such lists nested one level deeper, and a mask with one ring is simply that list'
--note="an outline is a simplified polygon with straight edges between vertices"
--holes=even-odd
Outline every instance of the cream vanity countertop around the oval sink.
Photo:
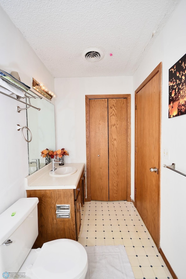
[{"label": "cream vanity countertop around the oval sink", "polygon": [[65,163],[60,167],[76,167],[77,171],[74,174],[63,177],[49,176],[49,171],[52,169],[52,163],[47,164],[42,169],[34,172],[25,178],[26,190],[44,190],[44,189],[76,189],[79,179],[81,177],[84,163]]}]

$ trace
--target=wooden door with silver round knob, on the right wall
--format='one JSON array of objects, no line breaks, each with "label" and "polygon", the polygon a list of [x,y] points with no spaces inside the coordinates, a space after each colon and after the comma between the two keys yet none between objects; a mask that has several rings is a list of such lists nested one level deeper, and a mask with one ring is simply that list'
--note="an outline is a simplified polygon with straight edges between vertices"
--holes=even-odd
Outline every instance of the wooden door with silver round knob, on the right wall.
[{"label": "wooden door with silver round knob, on the right wall", "polygon": [[[135,93],[135,203],[158,247],[160,242],[161,65],[158,65]],[[154,167],[158,172],[150,171],[150,168]]]}]

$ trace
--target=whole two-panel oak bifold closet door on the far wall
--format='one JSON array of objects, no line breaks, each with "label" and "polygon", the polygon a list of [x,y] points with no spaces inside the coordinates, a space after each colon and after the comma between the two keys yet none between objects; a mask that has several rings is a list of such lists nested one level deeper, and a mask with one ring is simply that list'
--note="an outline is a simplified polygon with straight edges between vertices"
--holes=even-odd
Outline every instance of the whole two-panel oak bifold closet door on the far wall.
[{"label": "whole two-panel oak bifold closet door on the far wall", "polygon": [[90,99],[91,200],[127,199],[127,99]]}]

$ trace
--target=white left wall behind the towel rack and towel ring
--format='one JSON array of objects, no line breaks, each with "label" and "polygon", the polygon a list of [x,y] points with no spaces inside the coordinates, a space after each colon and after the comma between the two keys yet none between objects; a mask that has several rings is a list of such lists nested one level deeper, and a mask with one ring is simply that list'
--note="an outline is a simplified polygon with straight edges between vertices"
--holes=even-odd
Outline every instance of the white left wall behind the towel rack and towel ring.
[{"label": "white left wall behind the towel rack and towel ring", "polygon": [[[0,69],[17,71],[21,81],[31,86],[31,77],[54,90],[54,78],[44,67],[19,30],[0,7]],[[28,175],[28,145],[16,125],[26,126],[26,112],[16,112],[15,100],[0,94],[0,213],[26,196],[24,178]]]}]

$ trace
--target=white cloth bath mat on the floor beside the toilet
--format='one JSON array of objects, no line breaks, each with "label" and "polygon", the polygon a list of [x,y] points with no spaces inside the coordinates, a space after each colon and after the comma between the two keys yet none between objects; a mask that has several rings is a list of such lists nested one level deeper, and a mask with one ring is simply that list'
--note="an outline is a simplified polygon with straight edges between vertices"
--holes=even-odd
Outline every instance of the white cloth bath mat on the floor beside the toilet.
[{"label": "white cloth bath mat on the floor beside the toilet", "polygon": [[125,247],[86,246],[88,270],[85,279],[135,279]]}]

